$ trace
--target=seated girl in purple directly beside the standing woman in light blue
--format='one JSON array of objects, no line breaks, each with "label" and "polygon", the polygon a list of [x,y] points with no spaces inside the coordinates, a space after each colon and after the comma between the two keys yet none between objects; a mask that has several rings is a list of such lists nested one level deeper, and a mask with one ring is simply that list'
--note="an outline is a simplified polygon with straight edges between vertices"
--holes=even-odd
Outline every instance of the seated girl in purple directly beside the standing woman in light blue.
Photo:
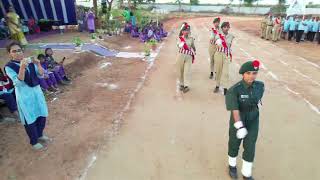
[{"label": "seated girl in purple directly beside the standing woman in light blue", "polygon": [[53,72],[48,71],[48,64],[46,62],[46,56],[44,54],[38,55],[38,60],[41,63],[41,66],[44,70],[44,77],[40,78],[40,86],[42,90],[47,93],[50,92],[59,92],[58,82],[53,74]]}]

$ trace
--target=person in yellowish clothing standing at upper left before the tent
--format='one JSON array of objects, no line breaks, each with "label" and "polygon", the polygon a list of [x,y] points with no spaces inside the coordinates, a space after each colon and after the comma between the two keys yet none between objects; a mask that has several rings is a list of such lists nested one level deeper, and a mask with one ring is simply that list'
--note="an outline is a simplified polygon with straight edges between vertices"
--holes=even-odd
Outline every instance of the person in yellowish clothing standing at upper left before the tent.
[{"label": "person in yellowish clothing standing at upper left before the tent", "polygon": [[11,39],[20,42],[22,46],[27,45],[27,39],[21,29],[22,26],[20,24],[20,17],[14,12],[12,6],[9,7],[8,13],[6,15],[6,22],[9,27]]}]

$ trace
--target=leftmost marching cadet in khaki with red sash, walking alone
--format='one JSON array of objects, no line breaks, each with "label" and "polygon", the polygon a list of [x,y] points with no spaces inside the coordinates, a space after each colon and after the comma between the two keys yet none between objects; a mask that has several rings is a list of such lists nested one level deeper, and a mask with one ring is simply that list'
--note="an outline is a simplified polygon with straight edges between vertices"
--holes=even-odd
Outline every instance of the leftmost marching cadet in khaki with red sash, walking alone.
[{"label": "leftmost marching cadet in khaki with red sash, walking alone", "polygon": [[180,91],[187,93],[190,89],[191,65],[194,63],[196,48],[194,38],[190,37],[190,25],[183,23],[178,39],[179,53],[177,57]]}]

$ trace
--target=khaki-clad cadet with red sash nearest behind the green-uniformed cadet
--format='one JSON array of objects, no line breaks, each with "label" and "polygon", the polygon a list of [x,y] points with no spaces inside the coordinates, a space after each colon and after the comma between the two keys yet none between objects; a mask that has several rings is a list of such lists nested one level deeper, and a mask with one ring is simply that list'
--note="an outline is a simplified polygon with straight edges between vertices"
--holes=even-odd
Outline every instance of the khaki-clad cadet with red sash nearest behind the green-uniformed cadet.
[{"label": "khaki-clad cadet with red sash nearest behind the green-uniformed cadet", "polygon": [[217,46],[214,54],[214,69],[216,73],[215,80],[217,82],[214,93],[219,92],[220,85],[224,88],[224,95],[229,87],[229,66],[232,61],[231,45],[234,39],[232,34],[229,34],[230,23],[223,22],[221,25],[221,33],[215,44]]}]

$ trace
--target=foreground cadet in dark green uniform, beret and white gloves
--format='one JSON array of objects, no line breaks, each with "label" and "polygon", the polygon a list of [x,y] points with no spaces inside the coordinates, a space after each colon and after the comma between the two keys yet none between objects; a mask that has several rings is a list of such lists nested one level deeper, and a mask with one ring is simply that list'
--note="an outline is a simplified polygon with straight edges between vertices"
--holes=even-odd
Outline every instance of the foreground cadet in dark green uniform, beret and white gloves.
[{"label": "foreground cadet in dark green uniform, beret and white gloves", "polygon": [[259,107],[264,93],[263,82],[256,81],[259,61],[244,63],[239,73],[242,81],[232,86],[226,95],[226,107],[231,111],[229,125],[229,175],[237,178],[237,156],[243,141],[242,175],[244,179],[253,180],[252,163],[259,131]]}]

